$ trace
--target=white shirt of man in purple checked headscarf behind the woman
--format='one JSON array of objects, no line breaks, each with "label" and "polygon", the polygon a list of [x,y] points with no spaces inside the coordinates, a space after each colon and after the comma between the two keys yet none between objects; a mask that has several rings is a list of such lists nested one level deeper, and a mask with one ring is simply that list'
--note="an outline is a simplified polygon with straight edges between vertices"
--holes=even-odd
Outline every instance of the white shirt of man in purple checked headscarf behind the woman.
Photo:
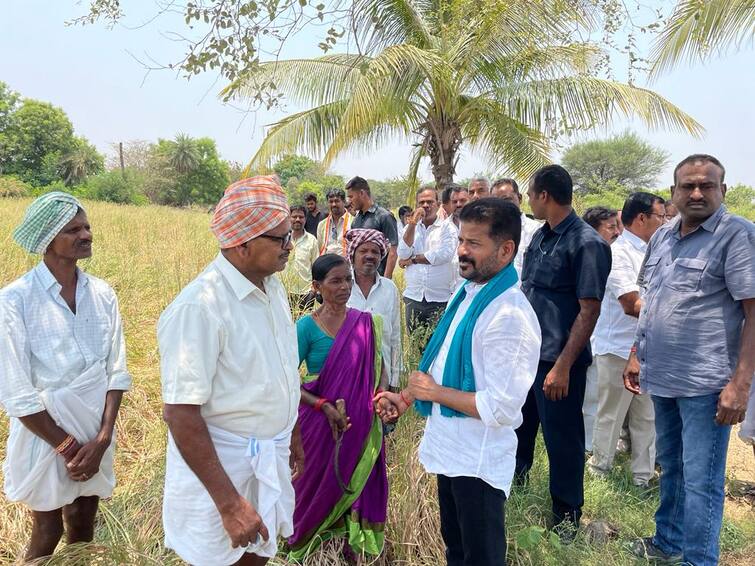
[{"label": "white shirt of man in purple checked headscarf behind the woman", "polygon": [[401,309],[396,284],[377,276],[377,282],[365,298],[356,280],[351,288],[347,306],[360,311],[378,314],[383,319],[383,360],[388,372],[388,384],[398,387],[401,371]]}]

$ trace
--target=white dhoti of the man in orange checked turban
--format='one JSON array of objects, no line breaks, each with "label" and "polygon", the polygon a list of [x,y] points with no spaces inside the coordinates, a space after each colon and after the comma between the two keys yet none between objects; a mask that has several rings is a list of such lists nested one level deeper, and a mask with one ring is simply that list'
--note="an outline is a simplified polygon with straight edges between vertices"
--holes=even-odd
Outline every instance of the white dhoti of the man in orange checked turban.
[{"label": "white dhoti of the man in orange checked turban", "polygon": [[293,534],[294,488],[291,485],[291,433],[273,440],[244,438],[208,426],[221,465],[239,494],[257,510],[270,538],[233,548],[220,513],[168,434],[163,497],[165,546],[195,566],[224,566],[245,552],[273,557],[277,538]]}]

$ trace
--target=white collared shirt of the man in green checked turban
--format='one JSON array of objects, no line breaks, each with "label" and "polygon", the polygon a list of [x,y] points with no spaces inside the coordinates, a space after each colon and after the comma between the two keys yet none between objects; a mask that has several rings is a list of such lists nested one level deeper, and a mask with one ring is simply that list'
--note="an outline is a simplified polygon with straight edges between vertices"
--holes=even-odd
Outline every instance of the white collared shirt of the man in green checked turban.
[{"label": "white collared shirt of the man in green checked turban", "polygon": [[104,363],[108,391],[127,391],[126,344],[110,286],[77,270],[76,314],[44,262],[0,291],[0,403],[11,417],[44,411],[59,389]]}]

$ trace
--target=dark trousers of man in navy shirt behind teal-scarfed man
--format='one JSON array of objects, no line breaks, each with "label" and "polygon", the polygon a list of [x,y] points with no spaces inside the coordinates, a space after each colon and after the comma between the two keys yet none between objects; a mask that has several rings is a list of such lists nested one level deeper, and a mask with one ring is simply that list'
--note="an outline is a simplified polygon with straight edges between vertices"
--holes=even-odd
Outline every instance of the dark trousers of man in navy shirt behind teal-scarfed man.
[{"label": "dark trousers of man in navy shirt behind teal-scarfed man", "polygon": [[550,401],[543,393],[545,376],[553,362],[541,361],[535,384],[522,407],[522,425],[516,430],[516,474],[521,481],[532,467],[538,425],[548,452],[553,523],[570,520],[579,524],[584,504],[585,425],[582,402],[587,380],[586,366],[572,366],[569,394],[561,401]]}]

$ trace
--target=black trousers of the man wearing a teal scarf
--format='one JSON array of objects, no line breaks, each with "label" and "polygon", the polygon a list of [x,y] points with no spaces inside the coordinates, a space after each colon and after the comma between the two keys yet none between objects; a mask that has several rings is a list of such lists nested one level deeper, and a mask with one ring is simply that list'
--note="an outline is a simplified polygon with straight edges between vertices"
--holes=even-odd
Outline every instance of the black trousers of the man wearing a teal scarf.
[{"label": "black trousers of the man wearing a teal scarf", "polygon": [[448,566],[506,565],[506,494],[479,478],[438,476]]}]

